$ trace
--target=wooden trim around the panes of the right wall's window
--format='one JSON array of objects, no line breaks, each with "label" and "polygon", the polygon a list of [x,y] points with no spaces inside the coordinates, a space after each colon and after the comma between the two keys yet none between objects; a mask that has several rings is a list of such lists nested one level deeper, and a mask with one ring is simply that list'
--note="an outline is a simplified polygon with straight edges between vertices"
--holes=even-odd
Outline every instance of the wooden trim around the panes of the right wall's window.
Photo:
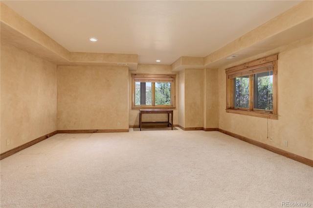
[{"label": "wooden trim around the panes of the right wall's window", "polygon": [[[246,116],[256,116],[269,119],[278,119],[277,115],[277,60],[278,54],[270,55],[264,58],[260,58],[251,62],[247,62],[242,65],[225,69],[226,73],[226,112],[233,114],[240,114]],[[272,69],[273,71],[273,110],[264,111],[260,109],[253,109],[254,102],[254,85],[253,75],[255,73],[267,71]],[[242,74],[249,75],[249,108],[248,109],[236,109],[234,108],[234,85],[233,78]]]}]

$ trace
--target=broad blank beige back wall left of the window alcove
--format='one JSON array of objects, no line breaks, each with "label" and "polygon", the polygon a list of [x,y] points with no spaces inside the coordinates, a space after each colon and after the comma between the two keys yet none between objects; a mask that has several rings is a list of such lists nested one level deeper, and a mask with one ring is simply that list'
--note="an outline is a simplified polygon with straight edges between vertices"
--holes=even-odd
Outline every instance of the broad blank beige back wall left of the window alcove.
[{"label": "broad blank beige back wall left of the window alcove", "polygon": [[127,67],[58,66],[57,72],[58,130],[129,128]]}]

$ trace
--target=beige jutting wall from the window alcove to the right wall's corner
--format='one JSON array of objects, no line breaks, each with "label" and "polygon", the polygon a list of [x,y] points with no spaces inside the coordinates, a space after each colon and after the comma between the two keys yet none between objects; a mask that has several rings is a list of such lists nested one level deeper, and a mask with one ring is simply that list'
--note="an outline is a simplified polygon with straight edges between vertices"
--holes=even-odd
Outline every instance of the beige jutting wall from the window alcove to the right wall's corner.
[{"label": "beige jutting wall from the window alcove to the right wall's corner", "polygon": [[218,128],[218,69],[179,72],[179,125]]}]

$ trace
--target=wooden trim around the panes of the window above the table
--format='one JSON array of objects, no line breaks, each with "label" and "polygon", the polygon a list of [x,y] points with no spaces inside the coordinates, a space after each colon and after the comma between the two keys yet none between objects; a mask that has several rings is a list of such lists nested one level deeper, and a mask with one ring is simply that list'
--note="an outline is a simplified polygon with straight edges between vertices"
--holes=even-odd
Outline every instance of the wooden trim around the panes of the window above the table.
[{"label": "wooden trim around the panes of the window above the table", "polygon": [[[135,106],[135,82],[171,82],[171,101],[172,105],[136,105]],[[155,94],[155,88],[152,87],[152,94]],[[152,96],[152,103],[155,103],[155,97]],[[132,109],[176,109],[176,74],[132,74]]]}]

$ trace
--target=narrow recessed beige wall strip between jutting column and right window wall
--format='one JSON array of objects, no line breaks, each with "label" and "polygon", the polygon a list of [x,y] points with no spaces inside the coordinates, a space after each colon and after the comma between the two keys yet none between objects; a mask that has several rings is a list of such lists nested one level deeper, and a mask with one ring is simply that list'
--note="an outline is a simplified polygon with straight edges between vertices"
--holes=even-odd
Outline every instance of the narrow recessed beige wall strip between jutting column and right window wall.
[{"label": "narrow recessed beige wall strip between jutting column and right window wall", "polygon": [[218,128],[218,69],[205,69],[204,128]]}]

